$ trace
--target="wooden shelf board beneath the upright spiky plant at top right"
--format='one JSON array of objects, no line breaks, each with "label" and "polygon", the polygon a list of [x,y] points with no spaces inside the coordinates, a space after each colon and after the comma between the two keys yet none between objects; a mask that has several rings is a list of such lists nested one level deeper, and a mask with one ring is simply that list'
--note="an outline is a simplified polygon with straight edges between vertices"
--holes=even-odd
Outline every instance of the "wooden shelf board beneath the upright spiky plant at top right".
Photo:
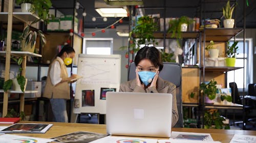
[{"label": "wooden shelf board beneath the upright spiky plant at top right", "polygon": [[[205,41],[226,42],[243,31],[243,28],[205,28]],[[202,38],[203,39],[203,38]]]}]

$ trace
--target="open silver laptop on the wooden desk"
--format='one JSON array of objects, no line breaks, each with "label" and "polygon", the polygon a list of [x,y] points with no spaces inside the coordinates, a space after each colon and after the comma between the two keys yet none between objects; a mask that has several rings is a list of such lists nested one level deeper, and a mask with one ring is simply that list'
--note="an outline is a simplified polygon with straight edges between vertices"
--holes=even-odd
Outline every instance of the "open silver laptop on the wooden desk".
[{"label": "open silver laptop on the wooden desk", "polygon": [[172,94],[106,93],[106,131],[110,135],[170,137]]}]

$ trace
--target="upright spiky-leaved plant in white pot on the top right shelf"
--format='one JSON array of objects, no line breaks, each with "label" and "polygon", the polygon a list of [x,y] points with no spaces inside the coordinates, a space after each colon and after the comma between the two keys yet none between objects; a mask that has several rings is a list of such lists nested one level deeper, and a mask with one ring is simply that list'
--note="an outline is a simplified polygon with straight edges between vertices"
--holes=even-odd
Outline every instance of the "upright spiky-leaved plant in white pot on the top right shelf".
[{"label": "upright spiky-leaved plant in white pot on the top right shelf", "polygon": [[223,16],[225,17],[223,21],[224,28],[234,27],[234,19],[232,19],[232,14],[236,6],[237,6],[237,3],[230,7],[229,1],[227,1],[226,6],[222,8]]}]

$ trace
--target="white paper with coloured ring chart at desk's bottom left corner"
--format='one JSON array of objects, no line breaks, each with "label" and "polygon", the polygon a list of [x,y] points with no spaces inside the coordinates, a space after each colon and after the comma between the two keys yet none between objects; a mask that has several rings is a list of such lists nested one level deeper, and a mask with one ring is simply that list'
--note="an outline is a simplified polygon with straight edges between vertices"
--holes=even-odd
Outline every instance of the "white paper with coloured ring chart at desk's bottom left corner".
[{"label": "white paper with coloured ring chart at desk's bottom left corner", "polygon": [[11,142],[11,143],[19,143],[20,141],[22,142],[38,142],[38,143],[46,143],[46,142],[51,142],[54,139],[48,139],[48,138],[39,138],[39,137],[32,137],[32,136],[22,136],[22,135],[12,135],[12,134],[4,134],[0,135],[0,143],[6,143],[6,142]]}]

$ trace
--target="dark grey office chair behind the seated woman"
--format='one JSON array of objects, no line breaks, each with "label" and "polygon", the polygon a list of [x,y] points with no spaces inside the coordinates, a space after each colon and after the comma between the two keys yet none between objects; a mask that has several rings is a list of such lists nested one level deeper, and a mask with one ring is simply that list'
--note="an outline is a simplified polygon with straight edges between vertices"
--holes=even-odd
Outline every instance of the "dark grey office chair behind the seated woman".
[{"label": "dark grey office chair behind the seated woman", "polygon": [[[129,68],[128,79],[136,78],[135,63],[131,63]],[[179,114],[179,120],[174,127],[183,127],[183,112],[182,112],[182,96],[181,96],[181,66],[178,63],[163,63],[163,69],[159,76],[164,80],[172,82],[176,85],[176,100]]]}]

